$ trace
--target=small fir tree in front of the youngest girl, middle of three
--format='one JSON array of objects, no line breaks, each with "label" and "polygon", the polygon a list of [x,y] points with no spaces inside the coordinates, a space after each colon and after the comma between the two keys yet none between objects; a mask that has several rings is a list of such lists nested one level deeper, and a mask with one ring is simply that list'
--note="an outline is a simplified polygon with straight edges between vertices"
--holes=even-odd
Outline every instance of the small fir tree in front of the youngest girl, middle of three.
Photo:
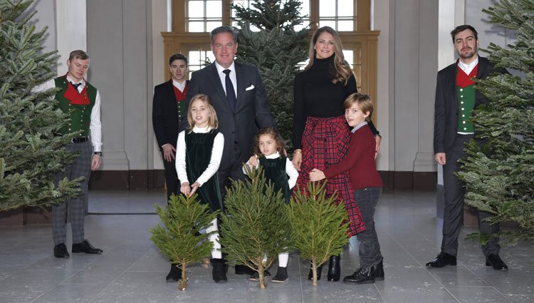
[{"label": "small fir tree in front of the youngest girl, middle of three", "polygon": [[229,262],[256,270],[259,287],[265,289],[265,269],[289,248],[286,200],[266,183],[261,168],[246,169],[250,180],[233,180],[226,191],[228,216],[222,220],[221,245]]}]

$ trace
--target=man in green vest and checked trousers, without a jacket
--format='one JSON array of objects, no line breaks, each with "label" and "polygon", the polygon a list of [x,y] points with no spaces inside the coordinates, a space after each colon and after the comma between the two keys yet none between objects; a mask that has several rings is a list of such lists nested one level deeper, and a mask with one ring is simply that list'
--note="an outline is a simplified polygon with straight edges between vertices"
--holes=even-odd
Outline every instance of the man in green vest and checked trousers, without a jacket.
[{"label": "man in green vest and checked trousers, without a jacket", "polygon": [[73,231],[72,252],[101,254],[102,250],[93,247],[85,239],[83,220],[85,216],[85,194],[91,170],[98,170],[102,156],[102,125],[100,123],[100,93],[85,79],[89,68],[89,56],[85,51],[72,51],[67,60],[68,72],[64,76],[52,79],[38,88],[48,90],[59,88],[56,99],[59,108],[68,113],[68,125],[61,129],[62,134],[81,132],[66,146],[66,150],[80,153],[78,158],[56,176],[56,181],[68,178],[73,180],[84,177],[80,183],[82,194],[60,205],[52,207],[52,230],[54,256],[68,258],[66,243],[67,205],[70,225]]}]

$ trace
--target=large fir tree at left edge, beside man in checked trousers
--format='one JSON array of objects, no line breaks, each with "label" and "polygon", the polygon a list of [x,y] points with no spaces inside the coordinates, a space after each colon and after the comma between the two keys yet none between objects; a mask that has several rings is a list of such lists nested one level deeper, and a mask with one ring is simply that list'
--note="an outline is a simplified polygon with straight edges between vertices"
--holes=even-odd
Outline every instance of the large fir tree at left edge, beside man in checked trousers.
[{"label": "large fir tree at left edge, beside man in checked trousers", "polygon": [[77,195],[79,180],[53,176],[75,154],[63,149],[77,134],[57,135],[66,115],[56,111],[55,90],[31,90],[56,76],[56,52],[43,51],[46,29],[36,31],[33,1],[0,0],[0,211],[52,205]]}]

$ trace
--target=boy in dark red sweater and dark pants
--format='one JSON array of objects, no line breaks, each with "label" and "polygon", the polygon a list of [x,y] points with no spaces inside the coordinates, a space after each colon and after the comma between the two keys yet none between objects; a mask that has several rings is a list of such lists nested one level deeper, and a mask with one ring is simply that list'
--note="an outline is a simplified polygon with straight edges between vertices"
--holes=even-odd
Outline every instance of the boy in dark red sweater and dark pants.
[{"label": "boy in dark red sweater and dark pants", "polygon": [[339,163],[322,170],[310,172],[311,181],[332,178],[349,170],[350,183],[360,211],[365,231],[357,237],[360,241],[360,268],[343,279],[346,284],[370,284],[384,279],[384,266],[377,232],[375,230],[375,207],[382,193],[382,179],[375,163],[375,135],[367,125],[373,111],[371,98],[362,93],[353,93],[343,103],[345,119],[352,127],[349,150]]}]

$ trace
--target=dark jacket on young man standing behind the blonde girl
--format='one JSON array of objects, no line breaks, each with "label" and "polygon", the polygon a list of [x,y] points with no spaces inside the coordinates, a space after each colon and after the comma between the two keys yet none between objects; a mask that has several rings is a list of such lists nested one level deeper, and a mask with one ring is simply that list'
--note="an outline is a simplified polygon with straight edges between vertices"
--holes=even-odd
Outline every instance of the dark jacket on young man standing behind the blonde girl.
[{"label": "dark jacket on young man standing behind the blonde girl", "polygon": [[[187,81],[186,87],[188,85],[189,81]],[[154,126],[159,150],[167,143],[172,144],[176,148],[178,133],[181,129],[179,128],[178,105],[176,96],[174,96],[174,88],[172,88],[172,79],[154,88],[152,125]]]}]

